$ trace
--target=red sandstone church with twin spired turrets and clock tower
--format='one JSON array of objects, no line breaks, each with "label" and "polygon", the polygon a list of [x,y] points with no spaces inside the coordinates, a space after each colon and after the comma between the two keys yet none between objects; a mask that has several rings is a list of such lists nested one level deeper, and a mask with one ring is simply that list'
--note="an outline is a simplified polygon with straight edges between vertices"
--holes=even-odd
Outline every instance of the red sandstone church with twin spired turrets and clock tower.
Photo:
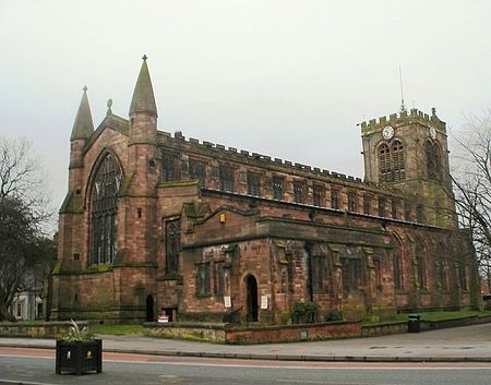
[{"label": "red sandstone church with twin spired turrets and clock tower", "polygon": [[446,127],[417,109],[361,123],[364,179],[157,130],[146,57],[129,119],[94,129],[86,88],[59,213],[52,318],[279,324],[478,305]]}]

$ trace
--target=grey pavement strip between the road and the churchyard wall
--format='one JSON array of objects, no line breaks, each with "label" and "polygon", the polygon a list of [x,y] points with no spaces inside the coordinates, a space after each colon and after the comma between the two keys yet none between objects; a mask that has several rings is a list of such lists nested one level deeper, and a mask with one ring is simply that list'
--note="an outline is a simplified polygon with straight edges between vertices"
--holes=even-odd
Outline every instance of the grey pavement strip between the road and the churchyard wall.
[{"label": "grey pavement strip between the road and the churchyard wall", "polygon": [[[491,324],[379,337],[221,345],[140,335],[100,335],[103,350],[136,354],[350,362],[491,362]],[[55,349],[55,339],[0,338],[1,347]]]}]

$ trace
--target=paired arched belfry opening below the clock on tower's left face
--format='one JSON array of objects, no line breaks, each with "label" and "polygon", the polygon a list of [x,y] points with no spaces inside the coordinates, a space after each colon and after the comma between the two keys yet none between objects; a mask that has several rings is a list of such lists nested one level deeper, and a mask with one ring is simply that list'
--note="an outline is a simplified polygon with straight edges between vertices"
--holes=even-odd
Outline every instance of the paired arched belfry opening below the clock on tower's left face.
[{"label": "paired arched belfry opening below the clock on tower's left face", "polygon": [[379,147],[379,175],[381,182],[397,182],[406,179],[404,145],[394,141],[391,146],[383,143]]}]

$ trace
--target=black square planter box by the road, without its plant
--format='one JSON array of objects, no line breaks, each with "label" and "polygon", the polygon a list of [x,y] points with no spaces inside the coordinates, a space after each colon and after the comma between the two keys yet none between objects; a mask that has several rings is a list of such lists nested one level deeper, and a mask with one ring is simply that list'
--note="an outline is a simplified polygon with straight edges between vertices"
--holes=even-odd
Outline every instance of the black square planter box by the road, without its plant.
[{"label": "black square planter box by the road, without its plant", "polygon": [[103,340],[88,341],[57,340],[56,372],[71,372],[77,375],[83,372],[103,372]]}]

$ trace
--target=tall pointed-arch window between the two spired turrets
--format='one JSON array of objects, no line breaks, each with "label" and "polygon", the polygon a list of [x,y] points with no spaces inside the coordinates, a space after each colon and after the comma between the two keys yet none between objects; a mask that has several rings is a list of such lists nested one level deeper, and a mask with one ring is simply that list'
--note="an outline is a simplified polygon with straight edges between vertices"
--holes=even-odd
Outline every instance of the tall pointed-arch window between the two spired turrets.
[{"label": "tall pointed-arch window between the two spired turrets", "polygon": [[118,193],[122,171],[118,160],[107,154],[99,164],[92,188],[92,253],[91,262],[115,262],[118,250]]}]

